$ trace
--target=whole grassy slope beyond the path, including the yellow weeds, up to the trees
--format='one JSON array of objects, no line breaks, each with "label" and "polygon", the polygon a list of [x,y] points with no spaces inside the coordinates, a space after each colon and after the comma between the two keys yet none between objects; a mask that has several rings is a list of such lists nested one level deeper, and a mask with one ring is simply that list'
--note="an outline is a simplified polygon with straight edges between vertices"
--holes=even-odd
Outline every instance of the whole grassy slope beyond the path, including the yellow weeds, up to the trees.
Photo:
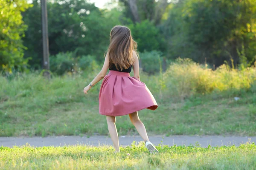
[{"label": "whole grassy slope beyond the path, including the yellow weeds, up to the trees", "polygon": [[[108,135],[98,112],[101,82],[83,94],[97,73],[0,77],[0,136]],[[141,80],[159,104],[139,112],[151,135],[256,136],[255,68],[210,71],[181,63],[164,74],[141,73]],[[120,135],[137,134],[128,116],[117,117],[116,125]]]}]

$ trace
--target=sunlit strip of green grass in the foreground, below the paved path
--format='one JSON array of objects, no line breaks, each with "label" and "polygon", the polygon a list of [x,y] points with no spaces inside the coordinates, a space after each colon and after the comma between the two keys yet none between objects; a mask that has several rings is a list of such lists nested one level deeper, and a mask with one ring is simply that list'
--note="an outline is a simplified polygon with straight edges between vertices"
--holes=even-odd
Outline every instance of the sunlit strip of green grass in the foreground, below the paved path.
[{"label": "sunlit strip of green grass in the foreground, below the paved path", "polygon": [[256,145],[239,147],[157,146],[150,154],[143,142],[131,147],[86,145],[64,147],[0,147],[1,170],[254,170]]}]

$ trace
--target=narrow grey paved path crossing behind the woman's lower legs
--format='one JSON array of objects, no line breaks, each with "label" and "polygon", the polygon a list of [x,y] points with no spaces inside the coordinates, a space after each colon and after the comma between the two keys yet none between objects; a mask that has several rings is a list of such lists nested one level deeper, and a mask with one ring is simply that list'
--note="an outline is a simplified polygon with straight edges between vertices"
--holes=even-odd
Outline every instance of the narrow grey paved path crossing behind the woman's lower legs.
[{"label": "narrow grey paved path crossing behind the woman's lower legs", "polygon": [[[150,136],[150,141],[153,144],[163,144],[172,146],[174,144],[186,145],[189,144],[195,145],[196,142],[201,144],[202,147],[207,147],[209,144],[211,146],[221,146],[226,145],[230,146],[235,144],[236,146],[241,143],[250,142],[256,143],[256,137],[239,137],[239,136]],[[140,142],[142,139],[140,136],[119,136],[119,144],[123,146],[131,145],[133,141]],[[25,145],[29,143],[31,146],[42,147],[42,146],[63,146],[74,145],[74,144],[88,144],[97,146],[100,144],[111,144],[111,139],[108,136],[91,136],[87,138],[86,136],[50,136],[50,137],[0,137],[0,146],[12,147],[13,145]]]}]

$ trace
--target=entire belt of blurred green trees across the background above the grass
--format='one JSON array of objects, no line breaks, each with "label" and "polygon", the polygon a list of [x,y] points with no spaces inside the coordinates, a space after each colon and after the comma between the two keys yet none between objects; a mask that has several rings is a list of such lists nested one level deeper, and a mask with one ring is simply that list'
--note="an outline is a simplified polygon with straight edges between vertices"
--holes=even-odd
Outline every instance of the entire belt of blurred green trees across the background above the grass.
[{"label": "entire belt of blurred green trees across the background above the grass", "polygon": [[[0,70],[23,70],[30,58],[32,68],[40,69],[40,1],[0,3]],[[161,51],[167,59],[192,58],[212,68],[228,61],[247,69],[255,62],[255,0],[119,0],[118,4],[115,8],[110,4],[109,10],[86,0],[47,1],[50,54],[74,51],[76,57],[90,55],[99,61],[108,48],[111,28],[124,24],[131,28],[140,52]]]}]

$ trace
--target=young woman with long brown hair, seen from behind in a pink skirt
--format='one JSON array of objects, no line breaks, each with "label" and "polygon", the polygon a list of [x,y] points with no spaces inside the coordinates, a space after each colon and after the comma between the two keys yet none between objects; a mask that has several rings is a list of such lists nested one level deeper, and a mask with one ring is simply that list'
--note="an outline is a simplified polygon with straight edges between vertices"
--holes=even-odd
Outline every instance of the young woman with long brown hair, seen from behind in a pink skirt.
[{"label": "young woman with long brown hair, seen from behind in a pink skirt", "polygon": [[[130,77],[133,66],[134,77]],[[109,71],[107,76],[106,73]],[[116,152],[119,152],[119,141],[116,130],[116,116],[129,115],[131,122],[145,141],[148,150],[158,152],[149,142],[143,122],[138,111],[142,109],[156,110],[158,105],[147,86],[140,81],[137,42],[131,37],[131,31],[125,26],[115,26],[110,33],[110,45],[105,56],[102,70],[90,84],[84,88],[84,93],[103,79],[99,91],[99,113],[106,115],[108,130]]]}]

